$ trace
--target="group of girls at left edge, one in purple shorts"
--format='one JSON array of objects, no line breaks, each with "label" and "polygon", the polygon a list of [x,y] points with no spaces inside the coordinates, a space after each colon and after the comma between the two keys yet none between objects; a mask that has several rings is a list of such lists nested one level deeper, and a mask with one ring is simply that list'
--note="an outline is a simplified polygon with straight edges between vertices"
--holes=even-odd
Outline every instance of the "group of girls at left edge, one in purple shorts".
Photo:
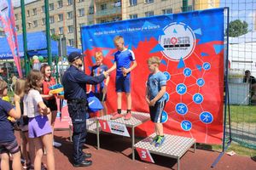
[{"label": "group of girls at left edge, one in purple shorts", "polygon": [[[44,150],[47,169],[55,169],[52,128],[48,116],[51,111],[44,104],[40,94],[43,75],[32,70],[24,79],[15,83],[15,107],[2,98],[8,94],[7,83],[0,80],[0,153],[1,169],[9,169],[9,156],[13,157],[12,169],[23,168],[41,170]],[[21,109],[20,109],[21,108]],[[14,123],[20,122],[20,148],[15,138]],[[27,150],[28,148],[28,150]]]}]

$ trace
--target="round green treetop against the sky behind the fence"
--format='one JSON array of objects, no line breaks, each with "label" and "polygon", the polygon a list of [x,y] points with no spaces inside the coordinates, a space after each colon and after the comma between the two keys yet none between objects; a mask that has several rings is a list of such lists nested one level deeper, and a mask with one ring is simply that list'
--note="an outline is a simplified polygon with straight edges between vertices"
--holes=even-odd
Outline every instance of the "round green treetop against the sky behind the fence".
[{"label": "round green treetop against the sky behind the fence", "polygon": [[[227,31],[226,31],[227,32]],[[230,37],[239,37],[248,32],[248,24],[246,21],[232,20],[230,22]]]}]

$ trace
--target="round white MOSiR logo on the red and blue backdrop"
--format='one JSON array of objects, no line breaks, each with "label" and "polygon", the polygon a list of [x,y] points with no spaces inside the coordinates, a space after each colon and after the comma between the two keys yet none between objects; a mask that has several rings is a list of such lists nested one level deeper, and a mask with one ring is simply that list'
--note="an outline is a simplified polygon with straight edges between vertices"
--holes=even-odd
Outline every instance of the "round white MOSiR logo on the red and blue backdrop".
[{"label": "round white MOSiR logo on the red and blue backdrop", "polygon": [[172,23],[164,28],[165,35],[160,36],[161,51],[166,58],[178,60],[188,58],[195,49],[195,34],[183,23]]}]

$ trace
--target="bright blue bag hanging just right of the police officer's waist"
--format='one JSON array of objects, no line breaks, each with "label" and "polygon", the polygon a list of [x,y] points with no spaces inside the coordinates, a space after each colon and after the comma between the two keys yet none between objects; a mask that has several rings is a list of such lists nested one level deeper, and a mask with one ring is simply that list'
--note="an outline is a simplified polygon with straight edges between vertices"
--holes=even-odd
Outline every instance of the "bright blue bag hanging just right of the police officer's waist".
[{"label": "bright blue bag hanging just right of the police officer's waist", "polygon": [[92,92],[87,94],[87,103],[89,112],[96,112],[103,109],[101,101]]}]

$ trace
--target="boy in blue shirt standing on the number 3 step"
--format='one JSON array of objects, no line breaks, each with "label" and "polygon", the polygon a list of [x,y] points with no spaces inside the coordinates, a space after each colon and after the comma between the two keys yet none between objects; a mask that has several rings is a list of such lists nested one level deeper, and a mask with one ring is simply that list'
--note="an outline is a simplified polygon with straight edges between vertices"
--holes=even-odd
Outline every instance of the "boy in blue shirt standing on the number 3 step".
[{"label": "boy in blue shirt standing on the number 3 step", "polygon": [[154,122],[154,130],[156,136],[151,144],[160,147],[165,141],[163,124],[161,123],[162,112],[166,105],[166,76],[159,70],[160,58],[151,57],[148,59],[148,76],[146,88],[146,101],[149,105],[149,113],[151,121]]}]

